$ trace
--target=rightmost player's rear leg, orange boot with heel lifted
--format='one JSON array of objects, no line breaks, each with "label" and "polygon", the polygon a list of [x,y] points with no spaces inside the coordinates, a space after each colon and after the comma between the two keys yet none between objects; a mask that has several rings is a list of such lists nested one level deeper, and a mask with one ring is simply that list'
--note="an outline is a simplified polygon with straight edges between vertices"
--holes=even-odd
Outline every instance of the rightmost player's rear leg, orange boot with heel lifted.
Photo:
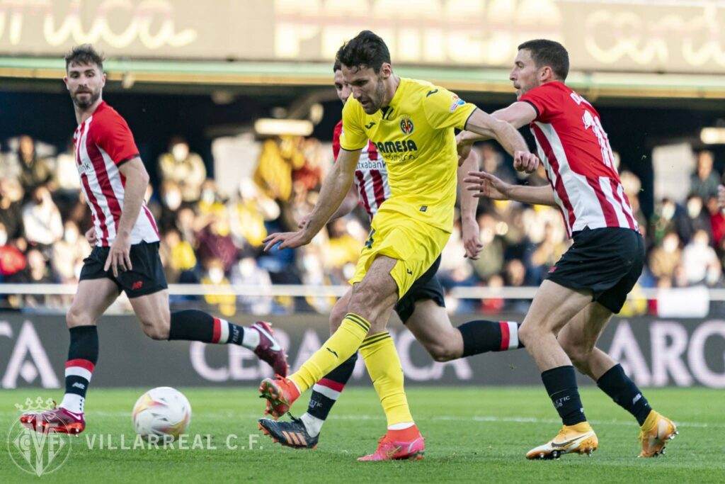
[{"label": "rightmost player's rear leg, orange boot with heel lifted", "polygon": [[612,400],[637,419],[640,457],[664,454],[665,445],[677,435],[671,420],[654,411],[637,385],[607,353],[595,347],[612,313],[599,303],[589,303],[559,333],[559,343],[580,372],[597,382]]}]

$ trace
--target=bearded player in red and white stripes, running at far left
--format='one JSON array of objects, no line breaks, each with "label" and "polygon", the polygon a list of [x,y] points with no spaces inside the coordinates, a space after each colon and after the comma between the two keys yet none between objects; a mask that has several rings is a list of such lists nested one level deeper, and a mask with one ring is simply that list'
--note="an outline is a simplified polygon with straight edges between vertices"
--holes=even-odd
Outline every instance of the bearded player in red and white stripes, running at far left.
[{"label": "bearded player in red and white stripes, running at far left", "polygon": [[70,348],[63,401],[40,414],[23,414],[20,422],[39,432],[83,432],[86,391],[99,353],[96,324],[122,290],[144,333],[154,340],[242,345],[286,374],[286,354],[264,321],[241,327],[203,311],[170,313],[159,232],[144,204],[149,175],[128,124],[102,99],[103,57],[85,44],[67,54],[65,65],[64,81],[78,120],[75,160],[94,221],[86,238],[94,248],[66,317]]}]

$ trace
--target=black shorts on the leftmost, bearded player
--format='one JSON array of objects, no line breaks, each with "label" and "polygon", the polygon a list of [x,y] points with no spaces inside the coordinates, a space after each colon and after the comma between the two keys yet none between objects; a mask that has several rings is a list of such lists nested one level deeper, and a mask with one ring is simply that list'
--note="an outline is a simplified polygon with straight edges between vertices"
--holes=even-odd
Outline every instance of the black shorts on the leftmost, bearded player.
[{"label": "black shorts on the leftmost, bearded player", "polygon": [[83,259],[83,268],[80,270],[80,280],[85,279],[111,279],[118,286],[118,290],[126,293],[128,298],[138,298],[165,290],[166,276],[159,258],[159,242],[141,242],[131,245],[130,259],[133,270],[121,271],[118,277],[113,275],[112,269],[104,271],[110,247],[94,247],[91,255]]}]

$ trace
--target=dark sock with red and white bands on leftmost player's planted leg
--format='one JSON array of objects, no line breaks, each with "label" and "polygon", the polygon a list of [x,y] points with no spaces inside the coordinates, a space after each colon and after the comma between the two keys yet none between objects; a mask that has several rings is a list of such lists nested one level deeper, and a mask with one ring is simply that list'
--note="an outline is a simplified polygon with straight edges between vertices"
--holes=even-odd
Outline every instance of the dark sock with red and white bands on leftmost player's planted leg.
[{"label": "dark sock with red and white bands on leftmost player's planted leg", "polygon": [[65,362],[65,395],[60,406],[75,414],[83,413],[86,392],[98,361],[98,329],[78,326],[69,329],[70,346]]}]

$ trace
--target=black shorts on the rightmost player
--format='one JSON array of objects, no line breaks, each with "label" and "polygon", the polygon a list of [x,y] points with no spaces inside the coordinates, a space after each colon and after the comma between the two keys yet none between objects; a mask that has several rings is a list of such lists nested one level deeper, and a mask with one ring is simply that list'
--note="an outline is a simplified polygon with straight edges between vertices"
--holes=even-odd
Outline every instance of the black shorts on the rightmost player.
[{"label": "black shorts on the rightmost player", "polygon": [[592,291],[592,300],[618,313],[645,265],[639,232],[605,227],[577,231],[573,245],[549,270],[547,279],[571,289]]}]

